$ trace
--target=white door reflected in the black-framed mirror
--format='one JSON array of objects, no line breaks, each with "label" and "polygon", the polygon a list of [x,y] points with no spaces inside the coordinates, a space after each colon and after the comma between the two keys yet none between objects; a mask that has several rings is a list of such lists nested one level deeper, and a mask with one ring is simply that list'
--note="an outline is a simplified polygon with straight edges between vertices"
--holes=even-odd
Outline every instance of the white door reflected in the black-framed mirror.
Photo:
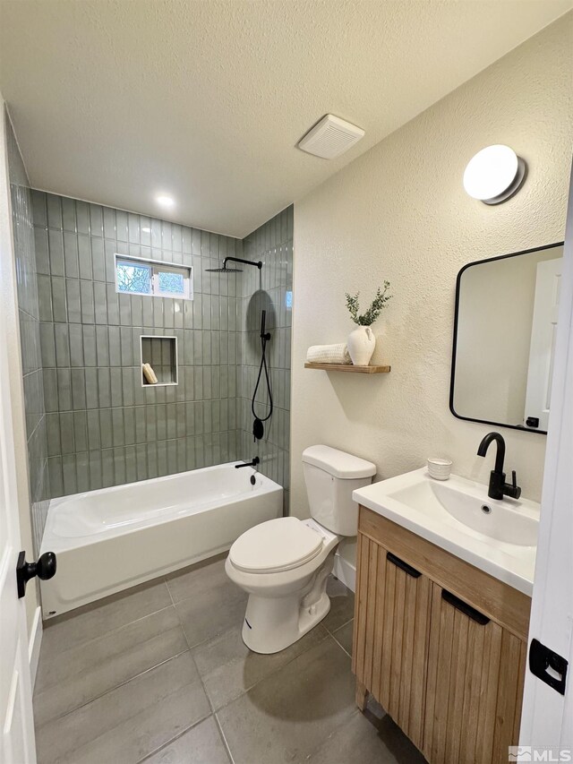
[{"label": "white door reflected in the black-framed mirror", "polygon": [[[525,420],[538,420],[535,429],[547,432],[551,407],[553,361],[563,258],[537,264],[534,317],[527,370]],[[531,425],[527,425],[530,426]],[[533,427],[531,427],[533,429]]]}]

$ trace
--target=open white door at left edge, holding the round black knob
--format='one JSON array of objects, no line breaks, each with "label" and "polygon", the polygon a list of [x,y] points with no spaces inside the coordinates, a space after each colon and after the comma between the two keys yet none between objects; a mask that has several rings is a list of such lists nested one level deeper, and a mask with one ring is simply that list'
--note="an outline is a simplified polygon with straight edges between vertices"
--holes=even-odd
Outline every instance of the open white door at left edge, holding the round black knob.
[{"label": "open white door at left edge, holding the round black knob", "polygon": [[[0,119],[4,102],[0,99]],[[0,125],[0,292],[13,288],[10,204],[6,181],[4,123]],[[11,267],[3,267],[10,263]],[[4,295],[2,295],[4,297]],[[0,299],[0,762],[36,761],[32,688],[24,600],[16,590],[16,562],[21,551],[12,405],[8,380],[6,300]],[[30,550],[31,553],[31,550]]]}]

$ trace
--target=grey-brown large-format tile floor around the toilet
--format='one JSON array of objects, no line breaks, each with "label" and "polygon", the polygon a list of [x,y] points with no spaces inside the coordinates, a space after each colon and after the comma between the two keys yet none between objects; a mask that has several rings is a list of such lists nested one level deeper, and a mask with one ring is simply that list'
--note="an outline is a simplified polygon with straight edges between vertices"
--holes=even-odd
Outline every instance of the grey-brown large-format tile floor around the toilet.
[{"label": "grey-brown large-format tile floor around the toilet", "polygon": [[273,656],[244,647],[220,557],[51,622],[38,764],[423,762],[380,707],[355,708],[354,597],[336,579],[329,594],[321,625]]}]

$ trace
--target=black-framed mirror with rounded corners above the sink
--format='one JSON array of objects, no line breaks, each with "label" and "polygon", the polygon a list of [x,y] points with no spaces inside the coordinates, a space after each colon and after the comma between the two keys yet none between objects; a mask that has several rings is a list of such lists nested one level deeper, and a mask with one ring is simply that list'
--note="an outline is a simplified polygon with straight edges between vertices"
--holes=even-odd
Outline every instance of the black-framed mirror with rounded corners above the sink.
[{"label": "black-framed mirror with rounded corners above the sink", "polygon": [[459,419],[547,432],[563,243],[458,273],[449,408]]}]

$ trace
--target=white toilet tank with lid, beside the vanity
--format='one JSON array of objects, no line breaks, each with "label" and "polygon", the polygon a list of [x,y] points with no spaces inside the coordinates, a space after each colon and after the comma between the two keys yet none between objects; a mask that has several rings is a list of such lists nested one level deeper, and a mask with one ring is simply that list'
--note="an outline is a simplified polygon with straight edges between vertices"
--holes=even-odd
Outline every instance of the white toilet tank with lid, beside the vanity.
[{"label": "white toilet tank with lid, beside the vanity", "polygon": [[358,504],[353,502],[352,492],[372,483],[375,465],[345,451],[317,445],[303,451],[303,470],[312,518],[339,536],[355,536]]}]

